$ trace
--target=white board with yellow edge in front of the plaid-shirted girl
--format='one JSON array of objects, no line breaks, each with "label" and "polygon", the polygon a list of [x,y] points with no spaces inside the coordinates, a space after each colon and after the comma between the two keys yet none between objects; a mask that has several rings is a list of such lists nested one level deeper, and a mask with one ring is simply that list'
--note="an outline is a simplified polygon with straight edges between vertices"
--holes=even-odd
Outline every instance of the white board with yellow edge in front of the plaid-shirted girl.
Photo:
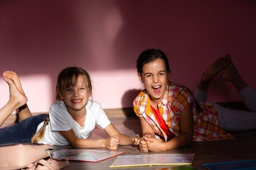
[{"label": "white board with yellow edge in front of the plaid-shirted girl", "polygon": [[152,165],[191,165],[195,153],[120,155],[110,168]]}]

